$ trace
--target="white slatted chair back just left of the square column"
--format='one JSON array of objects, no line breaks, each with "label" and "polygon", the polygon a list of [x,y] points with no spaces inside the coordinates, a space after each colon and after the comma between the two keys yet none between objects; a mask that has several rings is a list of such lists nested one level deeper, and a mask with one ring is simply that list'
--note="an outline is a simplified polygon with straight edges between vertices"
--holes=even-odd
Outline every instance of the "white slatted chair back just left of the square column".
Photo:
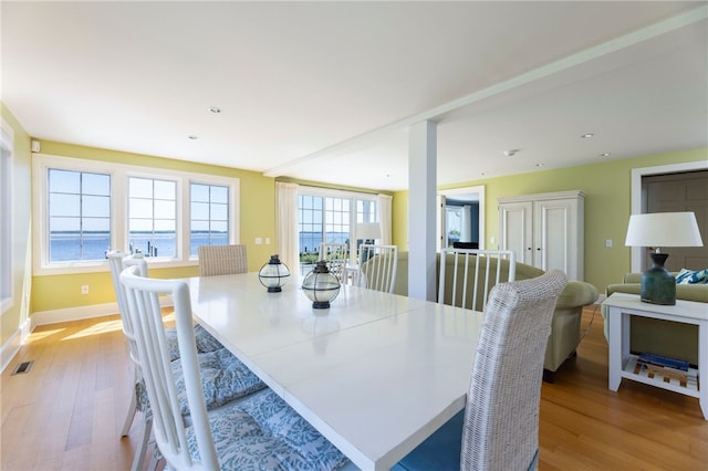
[{"label": "white slatted chair back just left of the square column", "polygon": [[398,247],[363,243],[358,249],[360,286],[369,290],[394,292],[398,270]]}]

